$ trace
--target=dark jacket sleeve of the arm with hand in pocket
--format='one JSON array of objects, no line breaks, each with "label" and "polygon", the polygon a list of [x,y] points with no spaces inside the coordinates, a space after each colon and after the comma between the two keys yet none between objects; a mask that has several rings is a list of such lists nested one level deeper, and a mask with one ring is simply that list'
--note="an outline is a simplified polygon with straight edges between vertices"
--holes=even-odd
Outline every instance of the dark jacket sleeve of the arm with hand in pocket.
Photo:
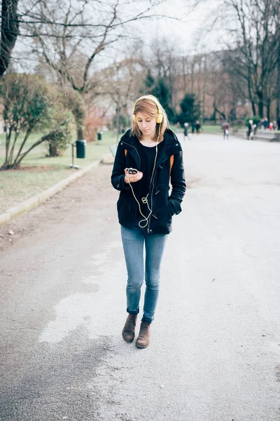
[{"label": "dark jacket sleeve of the arm with hand in pocket", "polygon": [[181,212],[181,202],[186,192],[186,180],[183,167],[183,152],[174,154],[174,163],[170,175],[170,182],[172,185],[172,192],[169,196],[169,206],[178,215]]}]

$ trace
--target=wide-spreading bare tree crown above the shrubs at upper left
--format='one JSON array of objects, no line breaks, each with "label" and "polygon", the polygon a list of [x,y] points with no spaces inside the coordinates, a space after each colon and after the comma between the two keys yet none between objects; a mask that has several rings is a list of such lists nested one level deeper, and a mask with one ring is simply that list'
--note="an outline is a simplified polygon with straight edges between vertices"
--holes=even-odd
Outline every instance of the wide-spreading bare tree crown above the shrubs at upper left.
[{"label": "wide-spreading bare tree crown above the shrubs at upper left", "polygon": [[55,71],[59,83],[83,98],[96,88],[91,76],[100,53],[125,38],[124,28],[132,22],[155,16],[153,7],[162,3],[144,0],[135,7],[124,0],[29,1],[21,24],[34,38],[34,51]]}]

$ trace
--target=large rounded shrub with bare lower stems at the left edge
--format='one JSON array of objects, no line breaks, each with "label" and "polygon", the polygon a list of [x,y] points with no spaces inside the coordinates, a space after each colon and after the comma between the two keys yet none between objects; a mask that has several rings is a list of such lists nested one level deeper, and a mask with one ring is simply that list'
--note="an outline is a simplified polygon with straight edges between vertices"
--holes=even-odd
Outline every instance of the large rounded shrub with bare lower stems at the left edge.
[{"label": "large rounded shrub with bare lower stems at the left edge", "polygon": [[[64,111],[61,100],[55,86],[40,76],[7,74],[1,79],[0,101],[6,132],[6,154],[1,170],[18,168],[34,147],[51,138],[52,142],[59,142],[60,150],[63,137],[64,142],[69,142],[66,130],[69,112]],[[47,133],[25,149],[29,135],[42,130]],[[24,136],[19,141],[20,133]]]}]

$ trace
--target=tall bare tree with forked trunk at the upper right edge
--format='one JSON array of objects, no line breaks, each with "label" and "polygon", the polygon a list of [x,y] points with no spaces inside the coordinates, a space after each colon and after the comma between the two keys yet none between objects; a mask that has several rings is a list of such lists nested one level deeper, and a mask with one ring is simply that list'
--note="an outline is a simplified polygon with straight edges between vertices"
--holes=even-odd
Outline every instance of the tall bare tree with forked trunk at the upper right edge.
[{"label": "tall bare tree with forked trunk at the upper right edge", "polygon": [[232,46],[230,67],[246,81],[253,114],[262,117],[272,100],[279,60],[280,8],[278,0],[227,0]]}]

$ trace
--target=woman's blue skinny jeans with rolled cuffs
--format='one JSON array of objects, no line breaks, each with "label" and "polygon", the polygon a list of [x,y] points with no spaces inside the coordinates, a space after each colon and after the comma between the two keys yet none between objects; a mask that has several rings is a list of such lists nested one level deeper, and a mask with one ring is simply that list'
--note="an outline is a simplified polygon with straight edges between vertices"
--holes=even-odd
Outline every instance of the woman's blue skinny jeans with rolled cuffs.
[{"label": "woman's blue skinny jeans with rolled cuffs", "polygon": [[[143,228],[121,227],[123,250],[127,265],[127,313],[139,313],[141,286],[146,281],[142,321],[151,323],[160,288],[160,263],[168,234],[146,234]],[[144,266],[145,244],[145,266]]]}]

